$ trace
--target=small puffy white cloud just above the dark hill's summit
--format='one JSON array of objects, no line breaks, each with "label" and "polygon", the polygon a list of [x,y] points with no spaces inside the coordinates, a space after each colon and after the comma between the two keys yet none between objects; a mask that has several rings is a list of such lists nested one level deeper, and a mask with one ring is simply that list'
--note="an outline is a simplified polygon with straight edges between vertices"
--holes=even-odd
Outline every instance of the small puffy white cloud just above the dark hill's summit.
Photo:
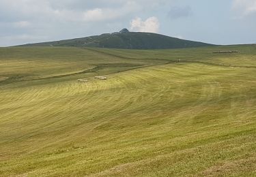
[{"label": "small puffy white cloud just above the dark hill's summit", "polygon": [[158,18],[154,16],[147,18],[145,21],[141,18],[134,18],[130,22],[130,29],[139,32],[158,33],[159,27],[160,24]]}]

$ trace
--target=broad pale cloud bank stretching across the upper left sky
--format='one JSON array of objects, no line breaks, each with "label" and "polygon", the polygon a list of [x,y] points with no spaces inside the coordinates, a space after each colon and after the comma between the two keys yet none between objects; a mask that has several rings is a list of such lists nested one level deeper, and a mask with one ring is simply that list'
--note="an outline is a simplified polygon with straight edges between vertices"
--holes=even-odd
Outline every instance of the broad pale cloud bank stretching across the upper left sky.
[{"label": "broad pale cloud bank stretching across the upper left sky", "polygon": [[[16,16],[16,18],[51,19],[61,22],[94,22],[115,20],[127,14],[138,12],[143,7],[140,1],[111,0],[109,3],[116,3],[116,5],[108,7],[102,6],[100,2],[81,0],[0,0],[0,14],[1,11],[8,15],[10,15],[9,12],[15,12],[11,16]],[[80,7],[70,7],[71,4],[80,5]]]}]

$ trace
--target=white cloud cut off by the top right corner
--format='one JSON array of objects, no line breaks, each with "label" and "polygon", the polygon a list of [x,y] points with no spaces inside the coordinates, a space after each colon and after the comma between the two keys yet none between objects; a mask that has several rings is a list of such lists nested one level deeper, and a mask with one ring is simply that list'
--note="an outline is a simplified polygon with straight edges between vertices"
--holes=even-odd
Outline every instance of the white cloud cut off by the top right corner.
[{"label": "white cloud cut off by the top right corner", "polygon": [[256,13],[256,0],[234,0],[232,9],[240,18]]}]

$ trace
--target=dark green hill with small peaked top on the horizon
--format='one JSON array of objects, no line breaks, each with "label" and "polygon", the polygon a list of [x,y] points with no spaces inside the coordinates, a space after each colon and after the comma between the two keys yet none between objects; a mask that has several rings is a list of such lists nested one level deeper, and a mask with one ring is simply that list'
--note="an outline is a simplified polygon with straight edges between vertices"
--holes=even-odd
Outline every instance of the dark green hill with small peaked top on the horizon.
[{"label": "dark green hill with small peaked top on the horizon", "polygon": [[25,44],[22,46],[72,46],[123,49],[171,49],[213,46],[203,42],[194,42],[156,33],[130,32],[122,29],[117,33],[105,33],[91,37],[66,39],[55,42]]}]

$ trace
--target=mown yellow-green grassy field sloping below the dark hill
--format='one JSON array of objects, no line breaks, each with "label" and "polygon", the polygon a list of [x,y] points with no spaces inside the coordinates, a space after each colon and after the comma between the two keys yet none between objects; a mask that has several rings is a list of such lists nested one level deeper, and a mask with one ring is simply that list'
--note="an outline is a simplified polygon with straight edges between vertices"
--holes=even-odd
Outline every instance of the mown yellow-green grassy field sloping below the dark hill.
[{"label": "mown yellow-green grassy field sloping below the dark hill", "polygon": [[0,48],[0,98],[0,176],[256,175],[255,45]]}]

